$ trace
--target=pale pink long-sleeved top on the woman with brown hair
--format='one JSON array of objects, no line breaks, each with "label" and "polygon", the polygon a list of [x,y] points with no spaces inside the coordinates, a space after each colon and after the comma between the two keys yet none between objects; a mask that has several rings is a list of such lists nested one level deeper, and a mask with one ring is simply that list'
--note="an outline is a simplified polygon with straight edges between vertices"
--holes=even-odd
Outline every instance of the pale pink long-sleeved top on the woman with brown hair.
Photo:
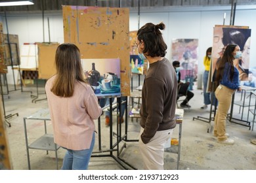
[{"label": "pale pink long-sleeved top on the woman with brown hair", "polygon": [[102,114],[98,99],[91,86],[78,81],[72,97],[58,97],[51,92],[54,78],[45,85],[54,142],[71,150],[88,149],[95,131],[94,120]]}]

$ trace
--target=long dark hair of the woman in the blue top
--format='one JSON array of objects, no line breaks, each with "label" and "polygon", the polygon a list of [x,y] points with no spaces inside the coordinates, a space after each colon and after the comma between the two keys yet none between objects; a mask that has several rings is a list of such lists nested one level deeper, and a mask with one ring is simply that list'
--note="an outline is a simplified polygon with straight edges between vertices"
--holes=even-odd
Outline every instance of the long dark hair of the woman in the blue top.
[{"label": "long dark hair of the woman in the blue top", "polygon": [[[226,49],[224,51],[223,54],[223,58],[221,58],[219,61],[217,61],[217,65],[216,65],[216,69],[217,69],[217,73],[216,73],[216,81],[219,83],[224,75],[224,67],[225,64],[228,63],[229,68],[230,69],[230,75],[229,75],[229,79],[233,80],[233,76],[234,76],[234,63],[233,63],[233,59],[234,56],[232,55],[232,52],[234,52],[236,46],[238,46],[237,44],[228,44],[228,46],[226,46]],[[225,73],[226,75],[226,73]]]}]

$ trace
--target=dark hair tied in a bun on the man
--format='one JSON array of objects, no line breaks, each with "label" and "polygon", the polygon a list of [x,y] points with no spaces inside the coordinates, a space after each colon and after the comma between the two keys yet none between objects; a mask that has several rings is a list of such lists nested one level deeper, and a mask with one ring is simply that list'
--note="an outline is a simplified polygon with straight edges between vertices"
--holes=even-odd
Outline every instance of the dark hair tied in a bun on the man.
[{"label": "dark hair tied in a bun on the man", "polygon": [[157,25],[147,23],[139,29],[137,38],[139,41],[144,42],[144,54],[147,54],[152,58],[165,56],[167,45],[163,41],[160,31],[163,29],[165,29],[165,24],[163,24],[163,22]]}]

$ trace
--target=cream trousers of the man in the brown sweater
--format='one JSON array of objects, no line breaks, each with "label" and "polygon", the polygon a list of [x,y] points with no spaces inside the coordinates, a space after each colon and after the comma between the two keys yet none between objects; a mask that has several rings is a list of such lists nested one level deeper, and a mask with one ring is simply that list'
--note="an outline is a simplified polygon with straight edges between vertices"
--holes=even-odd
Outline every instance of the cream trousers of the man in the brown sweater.
[{"label": "cream trousers of the man in the brown sweater", "polygon": [[[144,129],[140,128],[140,135]],[[154,137],[144,144],[139,136],[139,149],[145,170],[163,170],[163,153],[165,143],[171,138],[173,129],[157,131]]]}]

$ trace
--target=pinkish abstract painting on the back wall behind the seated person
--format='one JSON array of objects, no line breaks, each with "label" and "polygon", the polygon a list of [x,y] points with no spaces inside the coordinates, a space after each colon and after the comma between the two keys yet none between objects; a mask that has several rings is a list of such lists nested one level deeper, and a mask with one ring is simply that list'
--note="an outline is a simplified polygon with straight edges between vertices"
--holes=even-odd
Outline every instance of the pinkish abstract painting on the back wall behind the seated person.
[{"label": "pinkish abstract painting on the back wall behind the seated person", "polygon": [[190,82],[189,90],[193,90],[193,82],[198,75],[198,39],[173,39],[171,61],[181,63],[181,80]]}]

